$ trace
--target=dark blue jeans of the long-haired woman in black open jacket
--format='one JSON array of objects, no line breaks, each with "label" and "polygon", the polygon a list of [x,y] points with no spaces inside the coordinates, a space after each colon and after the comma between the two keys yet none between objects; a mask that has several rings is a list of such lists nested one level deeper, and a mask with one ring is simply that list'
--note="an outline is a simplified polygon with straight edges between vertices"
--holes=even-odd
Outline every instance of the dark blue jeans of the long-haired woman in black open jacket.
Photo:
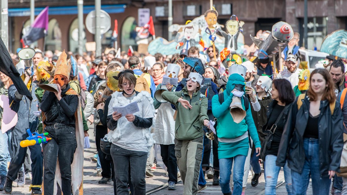
[{"label": "dark blue jeans of the long-haired woman in black open jacket", "polygon": [[318,139],[304,138],[305,163],[302,173],[291,171],[293,180],[293,194],[306,194],[310,176],[313,194],[329,194],[331,179],[328,174],[320,175],[319,143]]}]

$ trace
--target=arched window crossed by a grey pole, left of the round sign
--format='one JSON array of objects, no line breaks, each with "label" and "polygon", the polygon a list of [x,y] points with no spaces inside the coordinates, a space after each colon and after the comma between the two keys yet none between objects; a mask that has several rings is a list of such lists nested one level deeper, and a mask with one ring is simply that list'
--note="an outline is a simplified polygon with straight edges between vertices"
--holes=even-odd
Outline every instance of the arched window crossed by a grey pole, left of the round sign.
[{"label": "arched window crossed by a grey pole, left of the round sign", "polygon": [[[85,27],[83,25],[83,51],[86,51],[85,49],[85,43],[87,42],[85,37]],[[72,51],[74,53],[78,53],[78,18],[74,19],[74,21],[70,25],[69,30],[69,51]]]}]

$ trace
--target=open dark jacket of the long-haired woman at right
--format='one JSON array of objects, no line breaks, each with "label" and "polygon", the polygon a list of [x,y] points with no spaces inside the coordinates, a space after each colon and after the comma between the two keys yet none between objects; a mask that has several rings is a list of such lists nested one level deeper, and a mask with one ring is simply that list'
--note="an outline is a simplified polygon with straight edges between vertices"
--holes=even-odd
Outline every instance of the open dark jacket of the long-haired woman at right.
[{"label": "open dark jacket of the long-haired woman at right", "polygon": [[[307,125],[310,111],[308,96],[302,100],[303,104],[298,110],[297,99],[289,111],[287,124],[284,128],[279,146],[276,165],[283,167],[288,161],[291,170],[301,173],[305,163],[303,135]],[[339,172],[343,142],[343,117],[341,106],[336,102],[333,115],[331,115],[329,102],[321,101],[318,124],[320,175],[327,176],[329,170]]]}]

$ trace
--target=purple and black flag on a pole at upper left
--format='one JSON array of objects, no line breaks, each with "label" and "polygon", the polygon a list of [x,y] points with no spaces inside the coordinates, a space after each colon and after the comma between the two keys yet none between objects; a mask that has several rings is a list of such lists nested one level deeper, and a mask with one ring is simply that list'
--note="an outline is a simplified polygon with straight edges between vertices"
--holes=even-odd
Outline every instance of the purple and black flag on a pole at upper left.
[{"label": "purple and black flag on a pole at upper left", "polygon": [[35,18],[34,23],[29,28],[28,32],[23,36],[25,45],[30,45],[33,42],[43,38],[48,31],[48,6],[45,7],[40,14]]}]

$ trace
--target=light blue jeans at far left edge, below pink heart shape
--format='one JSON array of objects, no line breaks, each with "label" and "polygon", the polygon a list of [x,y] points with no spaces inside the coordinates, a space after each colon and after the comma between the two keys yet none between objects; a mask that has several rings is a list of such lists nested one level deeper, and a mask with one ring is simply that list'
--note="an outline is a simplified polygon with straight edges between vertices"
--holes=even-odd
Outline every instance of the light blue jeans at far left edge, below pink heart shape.
[{"label": "light blue jeans at far left edge, below pink heart shape", "polygon": [[11,135],[11,130],[0,132],[0,175],[7,175],[7,162],[11,161]]}]

